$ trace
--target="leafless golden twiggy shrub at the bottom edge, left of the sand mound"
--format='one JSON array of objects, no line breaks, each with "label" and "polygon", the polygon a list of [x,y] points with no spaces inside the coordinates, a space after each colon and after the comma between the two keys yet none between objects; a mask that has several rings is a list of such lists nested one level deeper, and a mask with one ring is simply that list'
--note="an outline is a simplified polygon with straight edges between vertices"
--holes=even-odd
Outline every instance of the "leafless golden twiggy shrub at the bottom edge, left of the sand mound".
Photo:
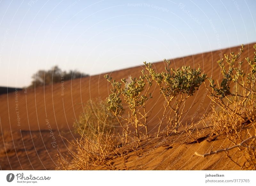
[{"label": "leafless golden twiggy shrub at the bottom edge, left of the sand mound", "polygon": [[[140,143],[125,143],[125,136],[117,135],[116,132],[105,130],[105,122],[100,129],[98,125],[96,130],[91,130],[85,133],[88,124],[88,118],[85,118],[84,131],[77,130],[79,138],[73,141],[68,141],[71,148],[68,154],[57,154],[59,159],[58,169],[62,170],[94,170],[104,169],[115,170],[113,160],[116,157],[123,158],[123,168],[127,169],[126,162],[128,153],[135,151],[140,156],[138,151]],[[122,147],[127,146],[123,149]],[[119,166],[120,168],[120,166]]]}]

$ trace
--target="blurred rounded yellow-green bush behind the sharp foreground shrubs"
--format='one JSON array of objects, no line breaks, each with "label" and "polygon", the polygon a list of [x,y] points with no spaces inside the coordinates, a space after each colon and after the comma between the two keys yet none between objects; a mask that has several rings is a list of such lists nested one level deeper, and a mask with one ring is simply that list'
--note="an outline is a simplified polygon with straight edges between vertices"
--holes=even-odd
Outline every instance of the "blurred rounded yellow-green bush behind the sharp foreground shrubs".
[{"label": "blurred rounded yellow-green bush behind the sharp foreground shrubs", "polygon": [[116,130],[118,120],[109,115],[107,102],[101,98],[99,100],[89,100],[84,104],[83,112],[74,122],[75,132],[79,134],[97,133],[98,130],[112,131]]}]

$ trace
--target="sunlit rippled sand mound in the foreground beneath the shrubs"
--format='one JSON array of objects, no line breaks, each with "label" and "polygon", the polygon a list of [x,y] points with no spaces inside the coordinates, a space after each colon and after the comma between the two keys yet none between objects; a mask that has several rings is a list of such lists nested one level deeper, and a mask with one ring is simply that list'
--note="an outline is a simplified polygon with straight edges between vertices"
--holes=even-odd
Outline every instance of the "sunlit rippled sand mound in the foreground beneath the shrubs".
[{"label": "sunlit rippled sand mound in the foreground beneath the shrubs", "polygon": [[[241,170],[223,152],[205,158],[194,154],[232,146],[224,136],[209,142],[209,132],[210,128],[200,130],[202,141],[199,143],[193,141],[186,133],[141,142],[137,153],[133,151],[125,157],[127,162],[124,163],[123,158],[118,157],[113,160],[113,167],[115,170]],[[244,159],[238,149],[229,151],[229,155],[243,165]]]}]

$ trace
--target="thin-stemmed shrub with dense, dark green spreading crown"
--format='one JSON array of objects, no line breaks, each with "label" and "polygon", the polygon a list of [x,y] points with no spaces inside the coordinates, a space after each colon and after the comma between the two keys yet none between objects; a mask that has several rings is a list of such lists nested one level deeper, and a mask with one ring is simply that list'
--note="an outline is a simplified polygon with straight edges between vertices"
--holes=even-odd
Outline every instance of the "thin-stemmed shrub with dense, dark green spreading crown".
[{"label": "thin-stemmed shrub with dense, dark green spreading crown", "polygon": [[192,69],[190,66],[182,66],[181,69],[170,69],[170,61],[165,60],[167,67],[166,72],[157,73],[151,67],[150,63],[144,63],[149,73],[149,78],[152,78],[160,89],[161,95],[164,97],[164,112],[158,128],[157,136],[159,135],[161,125],[164,119],[167,119],[166,134],[170,132],[178,132],[181,126],[181,118],[194,105],[184,111],[186,100],[193,96],[199,89],[200,85],[205,81],[206,74],[202,73],[201,68]]}]

